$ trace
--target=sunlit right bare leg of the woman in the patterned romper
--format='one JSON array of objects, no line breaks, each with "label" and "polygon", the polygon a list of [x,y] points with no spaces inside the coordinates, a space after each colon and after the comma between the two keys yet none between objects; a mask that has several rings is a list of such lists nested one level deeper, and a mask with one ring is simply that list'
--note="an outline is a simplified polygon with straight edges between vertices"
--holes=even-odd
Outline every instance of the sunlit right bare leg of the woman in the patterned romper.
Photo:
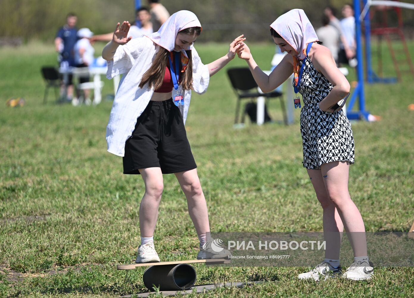
[{"label": "sunlit right bare leg of the woman in the patterned romper", "polygon": [[328,162],[320,168],[327,194],[342,219],[354,256],[366,256],[365,225],[348,191],[349,163]]}]

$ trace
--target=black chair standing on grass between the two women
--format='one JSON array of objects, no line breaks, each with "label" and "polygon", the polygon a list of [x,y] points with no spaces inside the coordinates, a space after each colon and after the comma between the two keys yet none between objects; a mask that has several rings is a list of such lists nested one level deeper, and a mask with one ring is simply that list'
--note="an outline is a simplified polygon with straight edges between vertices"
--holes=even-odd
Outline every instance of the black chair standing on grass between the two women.
[{"label": "black chair standing on grass between the two women", "polygon": [[[274,90],[268,93],[260,93],[258,91],[258,85],[256,84],[256,81],[253,78],[253,75],[250,72],[250,69],[247,67],[229,68],[227,70],[227,75],[229,75],[231,85],[233,86],[234,92],[236,92],[236,95],[238,97],[237,104],[236,104],[236,117],[234,119],[234,124],[238,123],[238,118],[239,118],[238,115],[239,115],[241,100],[244,98],[254,98],[254,97],[260,97],[260,96],[266,97],[266,99],[269,99],[272,97],[279,97],[280,105],[282,107],[283,120],[284,120],[284,123],[287,124],[286,108],[284,105],[281,92]],[[255,89],[254,91],[252,90],[253,88]]]}]

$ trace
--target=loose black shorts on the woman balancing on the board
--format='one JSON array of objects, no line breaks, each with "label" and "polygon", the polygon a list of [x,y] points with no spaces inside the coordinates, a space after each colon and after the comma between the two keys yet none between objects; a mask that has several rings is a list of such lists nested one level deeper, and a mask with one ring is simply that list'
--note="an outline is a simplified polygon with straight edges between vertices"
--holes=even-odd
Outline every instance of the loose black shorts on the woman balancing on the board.
[{"label": "loose black shorts on the woman balancing on the board", "polygon": [[137,119],[132,136],[125,142],[124,174],[160,167],[163,174],[197,167],[185,133],[181,112],[172,99],[150,101]]}]

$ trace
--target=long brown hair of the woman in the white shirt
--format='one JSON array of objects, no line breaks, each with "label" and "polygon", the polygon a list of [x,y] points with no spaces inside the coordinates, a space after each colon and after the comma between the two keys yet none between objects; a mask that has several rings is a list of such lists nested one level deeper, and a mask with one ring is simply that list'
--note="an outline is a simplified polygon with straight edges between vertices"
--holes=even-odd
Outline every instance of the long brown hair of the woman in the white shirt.
[{"label": "long brown hair of the woman in the white shirt", "polygon": [[[190,27],[184,30],[179,31],[178,33],[185,33],[189,35],[193,35],[194,33],[197,36],[201,33],[201,27]],[[163,48],[162,46],[157,45],[157,52],[154,57],[154,61],[152,61],[152,65],[147,70],[146,73],[142,76],[142,80],[140,82],[139,87],[144,87],[145,84],[149,83],[149,87],[154,87],[154,90],[157,90],[162,85],[162,81],[164,80],[164,73],[165,68],[168,63],[168,55],[170,52]],[[188,56],[188,64],[182,73],[181,77],[181,87],[183,90],[191,90],[193,89],[193,58],[191,56],[191,51],[185,51]]]}]

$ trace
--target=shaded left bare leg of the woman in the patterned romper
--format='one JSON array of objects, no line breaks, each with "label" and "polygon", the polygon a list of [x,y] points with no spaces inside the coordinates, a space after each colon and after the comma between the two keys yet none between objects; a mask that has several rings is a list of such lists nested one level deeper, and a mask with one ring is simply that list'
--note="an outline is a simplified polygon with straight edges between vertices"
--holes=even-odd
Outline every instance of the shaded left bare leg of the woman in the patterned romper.
[{"label": "shaded left bare leg of the woman in the patterned romper", "polygon": [[323,209],[323,236],[326,241],[325,259],[338,260],[344,225],[326,192],[321,170],[307,170],[316,197]]}]

